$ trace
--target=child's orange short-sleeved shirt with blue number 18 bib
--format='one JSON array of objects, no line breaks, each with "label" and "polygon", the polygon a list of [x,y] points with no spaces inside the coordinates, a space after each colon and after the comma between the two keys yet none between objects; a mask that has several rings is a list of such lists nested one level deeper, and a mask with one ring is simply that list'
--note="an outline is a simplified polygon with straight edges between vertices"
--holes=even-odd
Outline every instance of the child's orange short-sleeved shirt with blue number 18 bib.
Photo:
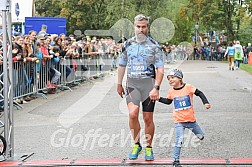
[{"label": "child's orange short-sleeved shirt with blue number 18 bib", "polygon": [[193,94],[196,88],[191,84],[185,84],[182,89],[171,88],[168,91],[167,98],[173,100],[173,120],[179,122],[195,122],[193,109]]}]

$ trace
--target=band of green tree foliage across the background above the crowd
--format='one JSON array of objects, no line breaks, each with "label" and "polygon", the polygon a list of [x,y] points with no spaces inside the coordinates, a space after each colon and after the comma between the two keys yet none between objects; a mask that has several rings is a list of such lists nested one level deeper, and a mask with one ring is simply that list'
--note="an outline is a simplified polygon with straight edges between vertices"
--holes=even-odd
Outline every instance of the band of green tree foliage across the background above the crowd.
[{"label": "band of green tree foliage across the background above the crowd", "polygon": [[122,18],[133,23],[139,13],[150,16],[150,22],[168,18],[176,28],[170,43],[191,42],[196,22],[202,33],[224,30],[230,40],[247,39],[243,32],[251,29],[252,17],[251,0],[35,0],[35,5],[38,16],[67,18],[68,34],[109,30]]}]

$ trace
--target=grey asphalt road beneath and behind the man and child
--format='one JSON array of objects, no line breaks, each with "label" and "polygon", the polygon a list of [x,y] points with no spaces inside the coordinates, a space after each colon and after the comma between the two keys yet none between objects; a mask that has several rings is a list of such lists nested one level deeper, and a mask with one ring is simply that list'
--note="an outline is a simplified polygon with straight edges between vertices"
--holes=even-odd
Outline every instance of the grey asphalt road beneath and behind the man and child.
[{"label": "grey asphalt road beneath and behind the man and child", "polygon": [[[194,97],[196,118],[206,137],[199,143],[186,131],[181,159],[251,158],[252,75],[209,61],[176,62],[165,70],[177,66],[184,72],[184,82],[202,90],[212,105],[205,110],[200,98]],[[132,140],[125,99],[117,95],[116,79],[109,75],[14,110],[15,153],[33,152],[28,160],[126,159]],[[168,88],[164,77],[161,96],[166,96]],[[172,106],[157,103],[154,115],[155,158],[172,158]]]}]

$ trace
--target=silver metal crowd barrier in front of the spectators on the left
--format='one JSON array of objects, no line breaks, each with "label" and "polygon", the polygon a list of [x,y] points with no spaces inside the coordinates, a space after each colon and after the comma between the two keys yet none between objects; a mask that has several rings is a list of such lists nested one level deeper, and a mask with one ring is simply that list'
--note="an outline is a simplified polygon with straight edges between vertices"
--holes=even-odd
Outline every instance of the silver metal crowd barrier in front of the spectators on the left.
[{"label": "silver metal crowd barrier in front of the spectators on the left", "polygon": [[[111,70],[112,58],[110,54],[102,53],[94,56],[82,55],[73,59],[61,58],[39,60],[37,62],[13,62],[13,99],[18,100],[26,96],[35,95],[46,97],[46,91],[51,88],[70,90],[72,86],[79,86],[81,82],[91,79],[102,79]],[[0,66],[0,71],[3,67]],[[56,70],[56,71],[55,71]],[[57,74],[56,83],[52,83]],[[1,76],[2,82],[3,76]],[[52,86],[53,85],[53,86]],[[3,99],[3,88],[0,88],[0,104]],[[48,93],[48,92],[47,92]],[[17,108],[22,106],[17,104]]]}]

